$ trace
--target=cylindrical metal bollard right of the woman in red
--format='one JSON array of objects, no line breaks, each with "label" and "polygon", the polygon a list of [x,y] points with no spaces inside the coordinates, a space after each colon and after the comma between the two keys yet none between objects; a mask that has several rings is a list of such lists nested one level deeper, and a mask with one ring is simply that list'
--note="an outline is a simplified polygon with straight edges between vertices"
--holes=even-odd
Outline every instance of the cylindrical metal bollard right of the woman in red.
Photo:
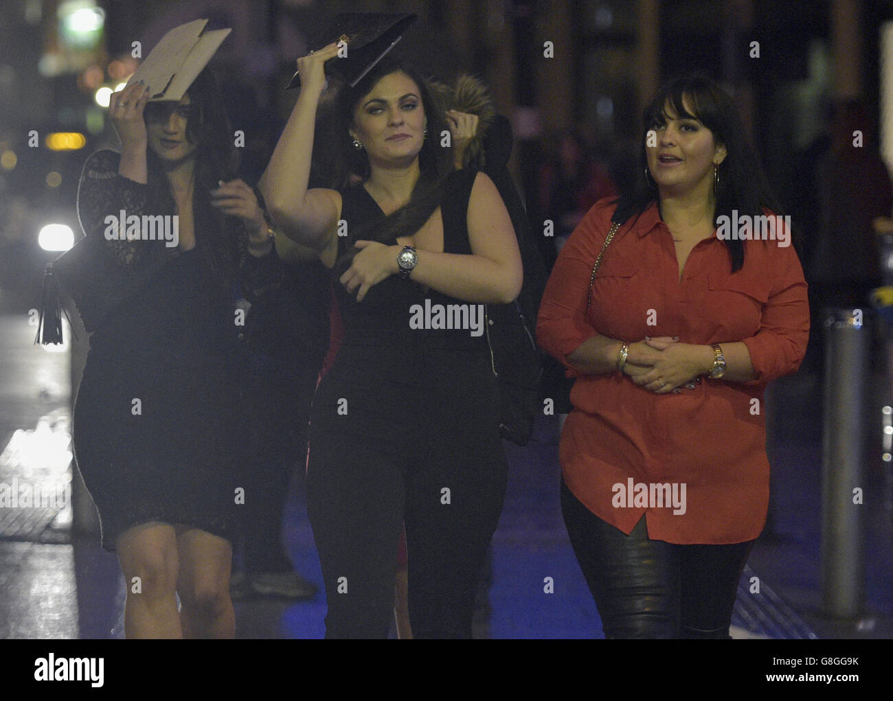
[{"label": "cylindrical metal bollard right of the woman in red", "polygon": [[871,343],[866,313],[824,314],[822,610],[837,618],[857,617],[864,597],[864,405]]}]

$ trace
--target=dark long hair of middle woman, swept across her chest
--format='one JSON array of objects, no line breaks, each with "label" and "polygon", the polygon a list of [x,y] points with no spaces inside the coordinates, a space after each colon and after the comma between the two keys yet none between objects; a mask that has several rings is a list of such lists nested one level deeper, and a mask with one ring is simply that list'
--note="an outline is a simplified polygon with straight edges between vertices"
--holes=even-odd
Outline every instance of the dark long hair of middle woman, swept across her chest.
[{"label": "dark long hair of middle woman, swept across her chest", "polygon": [[[368,95],[380,79],[396,72],[405,73],[418,86],[421,104],[428,121],[428,135],[422,142],[419,153],[421,172],[409,202],[368,227],[352,228],[351,241],[364,238],[385,243],[421,229],[422,224],[428,221],[431,213],[438,208],[444,195],[447,176],[453,171],[451,148],[440,146],[440,135],[444,129],[448,129],[447,118],[432,96],[428,82],[408,63],[396,57],[386,56],[356,84],[355,88],[347,84],[341,86],[338,95],[330,104],[329,138],[326,146],[330,146],[333,151],[331,187],[344,190],[350,187],[352,179],[369,178],[369,158],[364,150],[358,151],[354,148],[349,129],[354,121],[356,105],[363,96]],[[339,261],[336,270],[344,267],[349,257],[352,257],[351,253]]]}]

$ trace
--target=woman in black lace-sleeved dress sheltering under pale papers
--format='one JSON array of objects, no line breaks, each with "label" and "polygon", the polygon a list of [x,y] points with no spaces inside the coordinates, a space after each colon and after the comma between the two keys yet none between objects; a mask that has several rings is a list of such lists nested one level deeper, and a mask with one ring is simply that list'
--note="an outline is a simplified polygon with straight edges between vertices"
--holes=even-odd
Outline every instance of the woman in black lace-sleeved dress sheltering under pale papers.
[{"label": "woman in black lace-sleeved dress sheltering under pale papers", "polygon": [[[236,472],[233,290],[260,294],[280,266],[254,192],[234,179],[211,73],[179,103],[148,95],[140,84],[113,94],[121,154],[92,154],[79,184],[85,234],[125,269],[158,271],[90,338],[74,445],[103,546],[121,563],[127,637],[232,638],[230,540],[250,498]],[[179,238],[121,240],[109,219],[121,211],[176,214]]]}]

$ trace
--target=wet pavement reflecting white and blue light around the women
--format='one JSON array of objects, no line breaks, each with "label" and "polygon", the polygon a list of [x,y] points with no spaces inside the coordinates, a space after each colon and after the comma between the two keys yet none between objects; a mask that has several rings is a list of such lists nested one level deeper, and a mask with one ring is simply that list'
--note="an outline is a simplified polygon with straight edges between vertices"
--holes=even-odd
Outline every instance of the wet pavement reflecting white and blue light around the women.
[{"label": "wet pavement reflecting white and blue light around the women", "polygon": [[[117,559],[99,547],[98,534],[72,530],[71,499],[51,503],[53,488],[59,497],[58,485],[71,480],[69,355],[32,345],[34,331],[27,315],[0,316],[0,485],[36,485],[46,497],[39,507],[0,508],[0,638],[121,638]],[[821,383],[801,371],[774,389],[771,522],[742,577],[734,637],[893,638],[893,518],[883,493],[887,466],[880,462],[887,387],[875,375],[872,405],[865,407],[874,438],[865,464],[864,615],[847,621],[822,615]],[[506,444],[506,451],[509,490],[481,584],[476,636],[601,637],[558,506],[556,417],[542,418],[529,446]],[[76,504],[80,493],[74,489]],[[298,572],[321,584],[298,475],[283,532]],[[753,577],[759,594],[751,592]],[[544,591],[546,578],[554,593]],[[238,601],[237,636],[321,638],[324,613],[321,593],[297,603]]]}]

